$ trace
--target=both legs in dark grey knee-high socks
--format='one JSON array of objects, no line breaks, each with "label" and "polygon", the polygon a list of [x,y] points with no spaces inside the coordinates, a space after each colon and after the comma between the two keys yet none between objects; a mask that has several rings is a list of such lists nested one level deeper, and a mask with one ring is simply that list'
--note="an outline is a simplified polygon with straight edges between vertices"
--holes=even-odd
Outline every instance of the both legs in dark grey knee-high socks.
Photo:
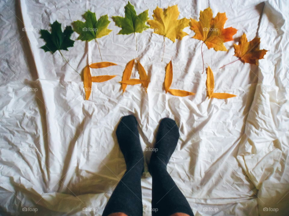
[{"label": "both legs in dark grey knee-high socks", "polygon": [[[117,126],[117,140],[126,161],[126,172],[108,200],[103,216],[142,216],[141,175],[144,155],[134,116],[124,116]],[[153,216],[194,216],[185,196],[166,170],[176,149],[179,128],[169,118],[161,120],[156,143],[148,165],[152,176]]]}]

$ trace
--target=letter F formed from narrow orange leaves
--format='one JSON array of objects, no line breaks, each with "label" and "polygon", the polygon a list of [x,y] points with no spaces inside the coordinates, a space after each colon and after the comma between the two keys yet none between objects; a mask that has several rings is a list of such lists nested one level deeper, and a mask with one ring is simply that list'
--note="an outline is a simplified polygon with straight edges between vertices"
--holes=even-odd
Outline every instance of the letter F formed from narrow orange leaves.
[{"label": "letter F formed from narrow orange leaves", "polygon": [[117,65],[112,62],[102,61],[85,66],[83,70],[83,87],[85,91],[85,100],[89,99],[92,90],[92,82],[104,82],[112,79],[117,75],[101,75],[101,76],[91,76],[90,68],[102,68]]}]

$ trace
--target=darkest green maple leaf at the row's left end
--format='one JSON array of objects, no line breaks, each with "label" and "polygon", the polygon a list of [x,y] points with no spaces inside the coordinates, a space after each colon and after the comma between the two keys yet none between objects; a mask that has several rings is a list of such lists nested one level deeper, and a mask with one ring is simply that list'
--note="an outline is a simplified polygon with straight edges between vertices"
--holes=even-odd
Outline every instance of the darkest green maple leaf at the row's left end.
[{"label": "darkest green maple leaf at the row's left end", "polygon": [[45,52],[56,52],[57,50],[68,50],[67,47],[73,47],[74,41],[70,39],[73,30],[71,26],[66,26],[64,32],[61,30],[61,23],[55,21],[51,24],[51,33],[47,30],[40,29],[41,37],[46,44],[41,46]]}]

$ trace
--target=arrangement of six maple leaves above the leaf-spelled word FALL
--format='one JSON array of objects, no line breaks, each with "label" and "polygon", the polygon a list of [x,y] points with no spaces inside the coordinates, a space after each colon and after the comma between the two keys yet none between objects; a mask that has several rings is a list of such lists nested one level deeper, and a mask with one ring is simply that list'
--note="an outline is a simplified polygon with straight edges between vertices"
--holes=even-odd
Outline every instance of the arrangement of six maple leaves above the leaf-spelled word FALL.
[{"label": "arrangement of six maple leaves above the leaf-spelled word FALL", "polygon": [[[67,50],[68,47],[73,47],[74,41],[70,39],[73,30],[79,34],[78,40],[81,41],[91,41],[95,39],[98,44],[97,38],[101,38],[105,35],[108,35],[112,30],[107,29],[108,24],[110,21],[108,20],[108,16],[104,15],[101,16],[99,20],[96,19],[95,13],[91,11],[87,11],[83,14],[85,22],[80,20],[74,21],[72,23],[73,29],[71,26],[67,26],[62,32],[61,24],[55,21],[51,24],[51,33],[47,30],[41,29],[40,34],[46,42],[46,44],[40,48],[44,49],[45,52],[50,51],[52,53],[56,52],[57,50],[60,52],[64,60],[64,55],[61,53],[62,50]],[[203,41],[208,47],[214,48],[216,51],[227,51],[226,47],[224,46],[224,42],[232,41],[232,36],[236,34],[237,29],[233,27],[229,27],[224,29],[224,24],[227,20],[225,13],[218,13],[215,18],[213,18],[213,13],[210,7],[205,9],[204,11],[200,11],[200,18],[199,21],[194,19],[178,19],[179,17],[179,10],[177,5],[173,5],[168,7],[164,10],[157,7],[154,10],[153,20],[148,20],[148,10],[136,15],[134,6],[128,2],[125,6],[125,17],[120,16],[113,16],[113,21],[115,24],[122,29],[118,34],[132,34],[134,33],[141,33],[144,29],[151,28],[154,29],[154,33],[163,35],[164,38],[164,48],[165,48],[165,37],[169,38],[173,42],[175,39],[182,39],[184,36],[188,35],[186,32],[182,30],[185,27],[190,26],[190,29],[195,32],[193,38],[196,38],[200,41]],[[147,22],[149,26],[145,24]],[[136,47],[137,47],[137,37],[136,39]],[[242,61],[243,63],[250,63],[250,64],[258,64],[258,59],[261,59],[266,54],[267,50],[262,49],[259,50],[260,38],[254,38],[252,41],[248,42],[246,34],[244,33],[239,41],[239,44],[234,44],[235,49],[235,56],[238,57],[238,60]],[[201,46],[201,52],[202,52]],[[98,49],[100,52],[100,48],[98,45]],[[137,49],[137,48],[136,48]],[[164,52],[164,51],[163,51]],[[101,53],[100,53],[101,55]],[[202,53],[203,58],[203,53]],[[102,60],[102,57],[101,57]],[[235,61],[233,61],[235,62]],[[231,62],[231,63],[233,63]],[[68,63],[68,62],[67,62]],[[141,65],[139,61],[138,64],[138,73],[140,79],[130,79],[132,68],[135,63],[135,59],[129,61],[126,65],[126,68],[123,72],[123,78],[120,82],[122,85],[123,92],[126,89],[127,85],[136,85],[142,84],[145,89],[148,88],[149,79],[144,70],[144,67]],[[229,64],[231,64],[229,63]],[[69,63],[68,63],[69,64]],[[70,64],[69,64],[70,65]],[[90,93],[92,82],[104,82],[109,79],[115,77],[104,75],[104,76],[91,76],[90,68],[102,68],[116,65],[112,62],[98,62],[87,65],[83,72],[83,81],[84,81],[84,89],[85,89],[85,99],[88,100]],[[225,65],[224,65],[225,66]],[[224,67],[223,66],[223,67]],[[76,71],[77,72],[77,71]],[[204,58],[203,58],[203,72],[204,72]],[[77,72],[78,73],[78,72]],[[165,91],[166,93],[169,92],[172,95],[176,96],[188,96],[194,95],[194,93],[179,89],[170,89],[172,83],[172,61],[169,62],[166,66],[166,75],[165,75]],[[214,77],[213,72],[210,67],[207,68],[207,95],[209,98],[231,98],[235,97],[236,95],[231,95],[227,93],[214,93]]]}]

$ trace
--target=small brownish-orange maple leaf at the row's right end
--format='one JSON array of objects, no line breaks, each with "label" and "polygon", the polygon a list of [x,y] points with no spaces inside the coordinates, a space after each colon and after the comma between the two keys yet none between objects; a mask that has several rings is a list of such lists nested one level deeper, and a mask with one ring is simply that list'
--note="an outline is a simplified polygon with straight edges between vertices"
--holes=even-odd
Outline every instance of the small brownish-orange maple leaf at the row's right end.
[{"label": "small brownish-orange maple leaf at the row's right end", "polygon": [[259,49],[260,38],[254,38],[252,41],[247,41],[247,36],[244,33],[239,41],[239,44],[233,44],[235,49],[235,56],[237,56],[243,63],[258,64],[258,59],[264,58],[268,50]]}]

